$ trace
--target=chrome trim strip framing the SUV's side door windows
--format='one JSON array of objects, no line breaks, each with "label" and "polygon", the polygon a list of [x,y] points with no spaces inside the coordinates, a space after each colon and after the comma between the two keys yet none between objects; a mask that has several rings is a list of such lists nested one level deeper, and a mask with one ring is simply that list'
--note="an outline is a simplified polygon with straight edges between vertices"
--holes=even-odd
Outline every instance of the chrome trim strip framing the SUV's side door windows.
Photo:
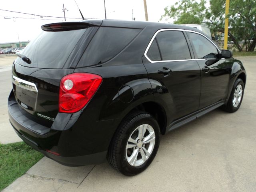
[{"label": "chrome trim strip framing the SUV's side door windows", "polygon": [[[214,45],[214,47],[216,47],[217,50],[219,50],[221,52],[221,50],[218,48],[218,46],[216,46],[214,43],[212,43],[212,40],[210,40],[210,38],[208,38],[207,36],[205,36],[204,34],[200,33],[200,32],[196,32],[196,31],[192,31],[192,30],[186,30],[186,29],[160,29],[158,31],[155,32],[155,34],[153,35],[153,37],[151,38],[145,52],[144,52],[144,56],[146,57],[146,59],[150,62],[150,63],[160,63],[160,62],[175,62],[175,61],[195,61],[195,60],[206,60],[206,59],[181,59],[181,60],[163,60],[163,61],[152,61],[150,60],[150,58],[148,58],[147,53],[148,50],[152,44],[152,42],[154,41],[156,35],[162,31],[184,31],[184,32],[192,32],[192,33],[196,33],[199,35],[204,36],[206,39],[208,39],[210,41],[211,44]],[[185,38],[185,37],[184,37]]]}]

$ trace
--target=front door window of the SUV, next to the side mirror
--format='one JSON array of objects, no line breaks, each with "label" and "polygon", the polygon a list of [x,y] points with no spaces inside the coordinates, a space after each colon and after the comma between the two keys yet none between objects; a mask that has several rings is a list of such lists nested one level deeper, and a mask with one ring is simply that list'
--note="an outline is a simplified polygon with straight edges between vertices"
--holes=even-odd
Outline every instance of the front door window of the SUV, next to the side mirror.
[{"label": "front door window of the SUV, next to the side mirror", "polygon": [[217,48],[204,36],[188,32],[188,37],[196,52],[195,58],[217,58]]}]

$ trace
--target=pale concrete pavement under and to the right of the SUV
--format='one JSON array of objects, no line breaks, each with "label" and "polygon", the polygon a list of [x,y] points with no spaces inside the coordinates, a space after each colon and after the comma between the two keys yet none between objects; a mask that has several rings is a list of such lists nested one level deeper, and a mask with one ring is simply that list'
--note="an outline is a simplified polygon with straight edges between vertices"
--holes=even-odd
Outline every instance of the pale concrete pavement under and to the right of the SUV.
[{"label": "pale concrete pavement under and to the right of the SUV", "polygon": [[44,157],[3,191],[255,192],[256,57],[239,59],[247,71],[240,110],[216,109],[162,136],[143,173],[127,177],[108,163],[66,167]]}]

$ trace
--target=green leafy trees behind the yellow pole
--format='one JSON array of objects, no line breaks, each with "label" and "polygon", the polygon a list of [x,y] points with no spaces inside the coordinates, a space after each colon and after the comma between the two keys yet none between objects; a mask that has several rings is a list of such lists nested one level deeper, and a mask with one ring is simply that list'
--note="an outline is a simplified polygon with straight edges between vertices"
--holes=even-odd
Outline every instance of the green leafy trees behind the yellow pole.
[{"label": "green leafy trees behind the yellow pole", "polygon": [[[224,32],[225,0],[179,0],[164,9],[164,18],[173,18],[174,24],[204,24],[212,32]],[[256,0],[231,0],[228,36],[239,51],[238,42],[244,40],[248,51],[256,46]],[[252,42],[251,42],[252,40]]]}]

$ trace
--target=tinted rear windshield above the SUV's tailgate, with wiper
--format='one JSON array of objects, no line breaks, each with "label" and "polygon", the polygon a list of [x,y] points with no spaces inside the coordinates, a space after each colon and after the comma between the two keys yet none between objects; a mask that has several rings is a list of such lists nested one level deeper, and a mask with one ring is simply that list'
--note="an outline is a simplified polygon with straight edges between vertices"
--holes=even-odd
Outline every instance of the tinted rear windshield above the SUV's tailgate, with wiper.
[{"label": "tinted rear windshield above the SUV's tailgate, with wiper", "polygon": [[68,56],[84,32],[86,29],[60,32],[43,31],[22,51],[22,55],[29,58],[31,64],[27,64],[21,58],[17,58],[16,62],[34,68],[63,68]]}]

